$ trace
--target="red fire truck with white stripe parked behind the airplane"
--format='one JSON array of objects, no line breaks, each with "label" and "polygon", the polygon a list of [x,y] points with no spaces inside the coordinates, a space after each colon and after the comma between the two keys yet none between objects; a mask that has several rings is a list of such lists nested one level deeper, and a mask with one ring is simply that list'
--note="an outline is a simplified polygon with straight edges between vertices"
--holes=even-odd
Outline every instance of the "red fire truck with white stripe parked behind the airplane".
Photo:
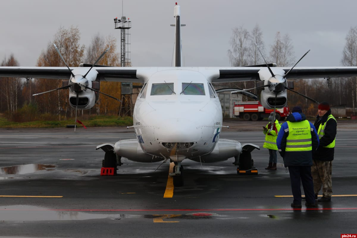
[{"label": "red fire truck with white stripe parked behind the airplane", "polygon": [[[233,108],[233,115],[236,117],[243,118],[245,121],[260,121],[263,118],[268,117],[274,109],[264,108],[260,102],[235,102]],[[283,107],[281,109],[276,109],[275,118],[280,120],[285,120],[285,117],[289,115],[289,108]]]}]

